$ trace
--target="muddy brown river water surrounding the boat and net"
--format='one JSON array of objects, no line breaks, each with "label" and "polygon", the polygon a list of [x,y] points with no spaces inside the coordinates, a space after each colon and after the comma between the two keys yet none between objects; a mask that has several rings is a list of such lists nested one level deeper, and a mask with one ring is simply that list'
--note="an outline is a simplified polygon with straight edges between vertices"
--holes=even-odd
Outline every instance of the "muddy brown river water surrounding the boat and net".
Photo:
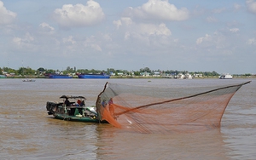
[{"label": "muddy brown river water surrounding the boat and net", "polygon": [[[108,82],[183,87],[244,83],[250,79],[108,79]],[[138,134],[110,124],[54,119],[47,101],[83,95],[95,106],[107,80],[0,79],[1,159],[255,159],[256,81],[242,86],[220,129],[194,134]]]}]

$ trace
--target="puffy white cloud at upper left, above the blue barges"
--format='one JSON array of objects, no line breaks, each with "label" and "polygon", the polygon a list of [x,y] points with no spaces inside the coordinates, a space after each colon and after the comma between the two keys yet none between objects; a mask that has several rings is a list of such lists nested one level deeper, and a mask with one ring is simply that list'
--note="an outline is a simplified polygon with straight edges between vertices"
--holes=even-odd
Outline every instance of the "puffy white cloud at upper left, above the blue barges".
[{"label": "puffy white cloud at upper left, above the blue barges", "polygon": [[105,15],[99,3],[88,1],[83,4],[65,4],[61,9],[55,9],[53,18],[62,27],[92,26],[104,19]]}]

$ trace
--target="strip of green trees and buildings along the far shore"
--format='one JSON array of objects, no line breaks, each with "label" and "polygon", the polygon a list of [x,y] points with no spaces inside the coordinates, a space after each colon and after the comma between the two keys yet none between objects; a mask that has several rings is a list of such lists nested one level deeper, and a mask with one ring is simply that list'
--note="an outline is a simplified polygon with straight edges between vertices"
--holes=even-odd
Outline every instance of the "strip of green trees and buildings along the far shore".
[{"label": "strip of green trees and buildings along the far shore", "polygon": [[[142,76],[143,73],[147,73],[148,75],[154,75],[155,73],[160,75],[178,75],[178,74],[190,74],[190,75],[201,75],[202,77],[219,77],[220,74],[216,71],[177,71],[177,70],[150,70],[148,67],[141,68],[138,71],[126,71],[126,70],[115,70],[113,68],[108,68],[105,70],[94,70],[94,69],[76,69],[76,67],[70,67],[67,66],[66,70],[60,71],[60,70],[53,70],[53,69],[45,69],[43,67],[38,68],[37,70],[33,70],[30,67],[20,67],[18,70],[9,68],[9,67],[3,67],[0,68],[0,74],[11,74],[15,76],[44,76],[44,74],[72,74],[76,75],[77,73],[101,73],[104,72],[108,75],[113,76],[119,76],[119,75],[125,75],[125,76]],[[121,73],[121,74],[119,74]],[[250,77],[253,76],[250,73],[246,73],[243,75],[234,75],[234,76],[242,76],[242,77]]]}]

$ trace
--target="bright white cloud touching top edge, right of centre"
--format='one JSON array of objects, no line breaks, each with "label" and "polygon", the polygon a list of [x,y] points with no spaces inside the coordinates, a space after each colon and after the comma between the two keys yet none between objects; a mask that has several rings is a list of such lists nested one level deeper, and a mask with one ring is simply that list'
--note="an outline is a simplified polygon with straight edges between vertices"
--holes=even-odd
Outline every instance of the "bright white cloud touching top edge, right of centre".
[{"label": "bright white cloud touching top edge, right of centre", "polygon": [[126,14],[148,20],[189,19],[188,9],[177,9],[175,5],[169,3],[167,0],[148,0],[148,3],[144,3],[142,7],[137,7],[135,9],[129,8]]}]

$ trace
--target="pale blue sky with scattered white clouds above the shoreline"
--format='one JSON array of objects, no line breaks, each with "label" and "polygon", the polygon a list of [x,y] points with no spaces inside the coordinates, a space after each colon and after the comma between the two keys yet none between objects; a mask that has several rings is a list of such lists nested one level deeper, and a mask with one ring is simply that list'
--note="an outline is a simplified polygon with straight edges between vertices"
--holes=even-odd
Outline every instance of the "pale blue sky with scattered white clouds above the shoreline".
[{"label": "pale blue sky with scattered white clouds above the shoreline", "polygon": [[256,0],[0,0],[0,67],[256,73]]}]

